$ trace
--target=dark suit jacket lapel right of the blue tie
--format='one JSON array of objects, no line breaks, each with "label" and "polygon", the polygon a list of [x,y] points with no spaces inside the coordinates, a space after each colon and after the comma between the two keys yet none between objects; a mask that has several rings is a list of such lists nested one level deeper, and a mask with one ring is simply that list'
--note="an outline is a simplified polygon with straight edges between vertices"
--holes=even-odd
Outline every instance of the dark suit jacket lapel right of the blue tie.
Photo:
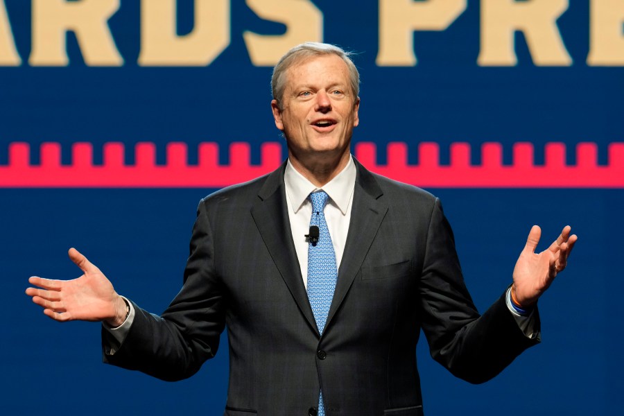
[{"label": "dark suit jacket lapel right of the blue tie", "polygon": [[377,234],[381,221],[388,211],[388,205],[379,199],[383,195],[383,191],[381,191],[373,175],[355,159],[354,162],[356,162],[358,174],[353,195],[351,222],[349,223],[345,252],[342,261],[340,261],[340,270],[338,270],[336,291],[333,293],[333,300],[325,324],[326,329],[331,324],[331,318],[338,311],[340,304],[345,300],[345,296]]}]

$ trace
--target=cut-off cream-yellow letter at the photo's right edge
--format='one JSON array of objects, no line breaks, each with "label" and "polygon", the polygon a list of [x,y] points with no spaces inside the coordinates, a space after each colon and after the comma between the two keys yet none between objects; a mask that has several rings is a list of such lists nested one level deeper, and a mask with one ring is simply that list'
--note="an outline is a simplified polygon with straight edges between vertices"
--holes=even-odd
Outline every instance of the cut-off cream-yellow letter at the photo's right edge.
[{"label": "cut-off cream-yellow letter at the photo's right edge", "polygon": [[598,67],[624,66],[624,1],[592,0],[587,64]]}]

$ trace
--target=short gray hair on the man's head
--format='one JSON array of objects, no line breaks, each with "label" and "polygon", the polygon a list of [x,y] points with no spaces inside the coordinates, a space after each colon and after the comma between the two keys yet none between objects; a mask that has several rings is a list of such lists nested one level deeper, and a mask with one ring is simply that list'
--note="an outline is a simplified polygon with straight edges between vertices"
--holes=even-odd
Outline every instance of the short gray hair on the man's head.
[{"label": "short gray hair on the man's head", "polygon": [[286,52],[277,62],[275,68],[273,68],[271,93],[273,94],[273,99],[277,100],[277,105],[280,109],[283,109],[281,101],[284,98],[284,89],[286,89],[286,70],[306,58],[319,55],[337,55],[345,61],[349,69],[349,82],[352,92],[355,98],[358,97],[360,94],[360,73],[350,58],[353,54],[332,44],[305,42]]}]

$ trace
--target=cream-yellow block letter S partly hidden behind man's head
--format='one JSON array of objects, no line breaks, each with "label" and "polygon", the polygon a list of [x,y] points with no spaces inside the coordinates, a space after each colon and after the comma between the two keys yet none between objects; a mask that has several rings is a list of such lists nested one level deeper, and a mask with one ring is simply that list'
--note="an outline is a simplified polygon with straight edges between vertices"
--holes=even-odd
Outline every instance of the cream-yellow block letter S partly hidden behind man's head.
[{"label": "cream-yellow block letter S partly hidden behind man's head", "polygon": [[272,67],[297,44],[323,40],[322,12],[309,0],[247,0],[247,5],[262,19],[286,25],[284,35],[243,33],[249,56],[257,67]]}]

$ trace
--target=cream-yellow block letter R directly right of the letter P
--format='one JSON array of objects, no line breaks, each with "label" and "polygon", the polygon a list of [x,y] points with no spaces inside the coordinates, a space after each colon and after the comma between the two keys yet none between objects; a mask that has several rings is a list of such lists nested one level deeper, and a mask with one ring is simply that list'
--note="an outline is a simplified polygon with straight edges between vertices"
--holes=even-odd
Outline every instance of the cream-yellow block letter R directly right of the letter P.
[{"label": "cream-yellow block letter R directly right of the letter P", "polygon": [[539,66],[569,66],[557,19],[568,0],[481,0],[481,66],[513,67],[518,59],[514,33],[522,31],[533,62]]}]

